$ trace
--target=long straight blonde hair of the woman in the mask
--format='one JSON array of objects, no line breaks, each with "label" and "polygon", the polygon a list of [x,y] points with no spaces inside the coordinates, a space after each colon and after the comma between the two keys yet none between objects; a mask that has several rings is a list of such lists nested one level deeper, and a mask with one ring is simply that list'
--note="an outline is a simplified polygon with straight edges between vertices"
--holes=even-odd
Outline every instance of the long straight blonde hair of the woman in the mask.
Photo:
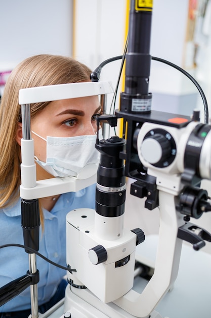
[{"label": "long straight blonde hair of the woman in the mask", "polygon": [[[21,106],[19,89],[90,81],[91,70],[71,57],[41,54],[22,61],[11,73],[0,104],[0,208],[19,197],[21,150],[16,142]],[[31,117],[49,102],[31,104]],[[42,217],[41,217],[42,218]]]}]

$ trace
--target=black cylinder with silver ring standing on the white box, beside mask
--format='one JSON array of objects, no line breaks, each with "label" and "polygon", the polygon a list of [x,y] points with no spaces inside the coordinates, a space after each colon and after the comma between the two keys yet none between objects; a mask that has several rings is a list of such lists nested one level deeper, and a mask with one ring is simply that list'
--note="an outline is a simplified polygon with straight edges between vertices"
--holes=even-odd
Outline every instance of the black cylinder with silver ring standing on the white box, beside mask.
[{"label": "black cylinder with silver ring standing on the white box, beside mask", "polygon": [[124,145],[125,140],[117,136],[96,144],[101,153],[97,173],[96,212],[102,216],[116,217],[124,213],[124,161],[119,158]]}]

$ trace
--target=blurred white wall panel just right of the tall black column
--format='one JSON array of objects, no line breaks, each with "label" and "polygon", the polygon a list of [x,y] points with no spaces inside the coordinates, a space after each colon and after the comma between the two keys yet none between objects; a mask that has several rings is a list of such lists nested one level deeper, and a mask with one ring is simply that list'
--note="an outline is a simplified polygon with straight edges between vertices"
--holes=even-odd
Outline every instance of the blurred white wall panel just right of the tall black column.
[{"label": "blurred white wall panel just right of the tall black column", "polygon": [[[152,56],[160,57],[182,67],[188,15],[188,0],[153,2],[151,49]],[[184,75],[170,66],[152,61],[150,89],[153,92],[181,94],[190,87],[183,84]]]}]

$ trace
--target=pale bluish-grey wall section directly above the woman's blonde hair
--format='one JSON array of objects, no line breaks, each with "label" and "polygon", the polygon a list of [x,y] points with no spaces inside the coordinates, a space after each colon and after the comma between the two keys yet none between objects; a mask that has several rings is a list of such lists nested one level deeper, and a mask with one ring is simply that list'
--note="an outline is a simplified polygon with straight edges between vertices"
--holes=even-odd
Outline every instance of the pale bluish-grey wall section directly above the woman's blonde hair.
[{"label": "pale bluish-grey wall section directly above the woman's blonde hair", "polygon": [[35,54],[71,55],[72,0],[0,0],[0,72]]}]

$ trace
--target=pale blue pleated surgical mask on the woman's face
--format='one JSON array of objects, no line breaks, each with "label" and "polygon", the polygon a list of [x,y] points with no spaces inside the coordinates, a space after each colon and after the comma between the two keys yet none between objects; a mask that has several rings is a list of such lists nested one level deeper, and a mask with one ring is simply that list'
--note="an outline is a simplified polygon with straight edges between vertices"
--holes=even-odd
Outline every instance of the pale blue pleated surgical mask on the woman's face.
[{"label": "pale blue pleated surgical mask on the woman's face", "polygon": [[[55,177],[72,176],[77,179],[87,179],[98,169],[100,153],[95,148],[96,135],[76,137],[49,137],[47,139],[32,133],[47,143],[46,162],[36,156],[38,165]],[[102,139],[102,129],[99,139]]]}]

